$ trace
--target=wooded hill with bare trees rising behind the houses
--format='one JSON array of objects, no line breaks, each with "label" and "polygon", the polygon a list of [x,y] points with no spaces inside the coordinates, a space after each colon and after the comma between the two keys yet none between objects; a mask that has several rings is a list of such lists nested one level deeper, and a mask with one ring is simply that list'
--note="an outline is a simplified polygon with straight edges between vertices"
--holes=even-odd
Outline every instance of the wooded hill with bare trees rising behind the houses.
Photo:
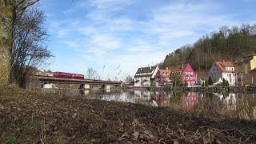
[{"label": "wooded hill with bare trees rising behind the houses", "polygon": [[256,24],[222,26],[218,32],[202,36],[193,45],[182,46],[167,54],[160,68],[190,63],[196,71],[208,72],[214,61],[238,61],[256,53]]}]

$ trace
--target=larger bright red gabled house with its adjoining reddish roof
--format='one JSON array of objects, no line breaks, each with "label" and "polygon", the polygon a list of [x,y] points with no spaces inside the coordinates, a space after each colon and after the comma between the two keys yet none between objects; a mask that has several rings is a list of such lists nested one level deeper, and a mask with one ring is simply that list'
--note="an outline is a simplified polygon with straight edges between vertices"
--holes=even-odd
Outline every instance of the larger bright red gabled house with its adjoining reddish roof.
[{"label": "larger bright red gabled house with its adjoining reddish roof", "polygon": [[169,69],[171,70],[171,74],[180,74],[182,82],[187,83],[188,86],[192,86],[198,81],[198,76],[189,63],[179,66],[170,66]]}]

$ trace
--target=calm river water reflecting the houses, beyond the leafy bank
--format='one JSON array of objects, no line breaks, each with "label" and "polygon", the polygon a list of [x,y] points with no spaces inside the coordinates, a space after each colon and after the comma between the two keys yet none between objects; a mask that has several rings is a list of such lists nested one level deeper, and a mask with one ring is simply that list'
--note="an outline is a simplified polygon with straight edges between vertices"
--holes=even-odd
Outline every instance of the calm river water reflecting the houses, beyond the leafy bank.
[{"label": "calm river water reflecting the houses, beyond the leafy bank", "polygon": [[75,95],[88,99],[133,102],[148,106],[173,107],[184,110],[199,110],[230,118],[256,120],[256,94],[174,93],[143,90],[51,90],[58,94]]}]

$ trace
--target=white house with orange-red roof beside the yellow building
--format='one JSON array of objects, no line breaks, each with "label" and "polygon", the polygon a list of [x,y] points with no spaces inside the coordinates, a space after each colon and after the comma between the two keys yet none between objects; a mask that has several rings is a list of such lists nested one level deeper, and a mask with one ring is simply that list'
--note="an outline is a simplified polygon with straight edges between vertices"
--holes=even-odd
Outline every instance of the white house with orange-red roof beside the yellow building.
[{"label": "white house with orange-red roof beside the yellow building", "polygon": [[208,72],[210,78],[213,82],[218,82],[218,80],[225,79],[229,82],[230,86],[235,86],[235,71],[234,64],[232,62],[214,62]]}]

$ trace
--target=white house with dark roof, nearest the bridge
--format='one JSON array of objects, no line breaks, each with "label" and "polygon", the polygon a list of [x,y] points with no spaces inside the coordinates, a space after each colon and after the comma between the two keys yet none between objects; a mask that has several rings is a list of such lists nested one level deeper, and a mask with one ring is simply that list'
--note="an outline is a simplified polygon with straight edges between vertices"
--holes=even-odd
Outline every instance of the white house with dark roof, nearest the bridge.
[{"label": "white house with dark roof, nearest the bridge", "polygon": [[154,81],[154,76],[157,74],[158,66],[148,66],[138,68],[134,75],[134,86],[135,87],[149,87],[151,82]]}]

